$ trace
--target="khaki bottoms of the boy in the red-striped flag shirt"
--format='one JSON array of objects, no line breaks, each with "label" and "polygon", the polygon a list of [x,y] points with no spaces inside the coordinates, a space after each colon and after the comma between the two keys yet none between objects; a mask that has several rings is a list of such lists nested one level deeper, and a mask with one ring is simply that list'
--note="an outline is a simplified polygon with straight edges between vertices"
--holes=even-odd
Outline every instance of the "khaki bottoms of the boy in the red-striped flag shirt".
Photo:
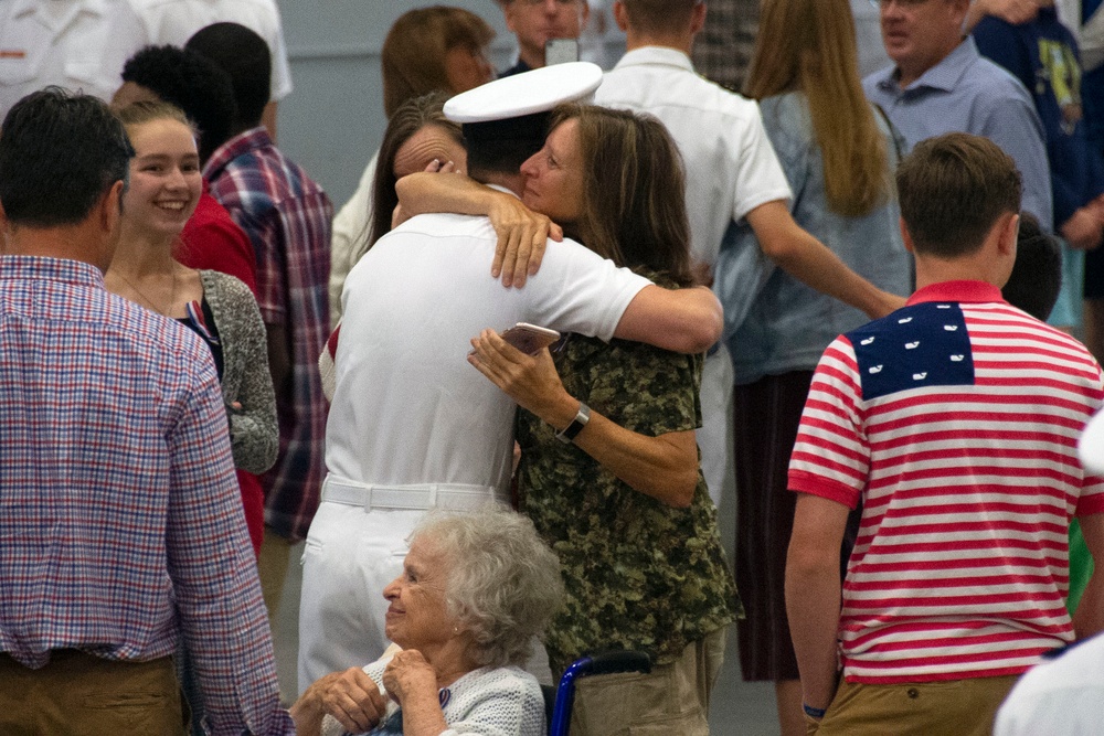
[{"label": "khaki bottoms of the boy in the red-striped flag shirt", "polygon": [[813,736],[989,736],[1018,675],[900,685],[841,682]]}]

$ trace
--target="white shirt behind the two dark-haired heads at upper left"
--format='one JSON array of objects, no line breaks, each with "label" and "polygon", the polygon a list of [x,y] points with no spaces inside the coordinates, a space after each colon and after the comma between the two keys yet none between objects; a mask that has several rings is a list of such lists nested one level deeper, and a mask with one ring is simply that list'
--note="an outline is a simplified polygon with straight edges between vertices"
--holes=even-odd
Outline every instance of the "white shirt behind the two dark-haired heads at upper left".
[{"label": "white shirt behind the two dark-haired heads at upper left", "polygon": [[272,52],[273,102],[284,99],[291,92],[291,67],[287,61],[284,25],[275,0],[128,1],[141,20],[144,35],[135,40],[118,39],[116,43],[134,51],[148,44],[183,46],[197,31],[212,23],[240,23],[264,39]]}]

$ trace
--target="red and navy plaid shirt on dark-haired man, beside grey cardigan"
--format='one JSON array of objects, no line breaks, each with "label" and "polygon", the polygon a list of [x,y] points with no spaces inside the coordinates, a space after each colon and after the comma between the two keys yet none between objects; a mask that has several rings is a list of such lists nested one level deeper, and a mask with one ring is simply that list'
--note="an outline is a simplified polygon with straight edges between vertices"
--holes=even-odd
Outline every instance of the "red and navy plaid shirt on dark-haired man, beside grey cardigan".
[{"label": "red and navy plaid shirt on dark-haired man, beside grey cardigan", "polygon": [[326,399],[318,356],[330,333],[327,286],[333,206],[264,128],[230,139],[204,170],[211,194],[253,241],[257,303],[291,341],[291,383],[276,386],[279,456],[264,474],[265,523],[296,542],[318,508],[325,471]]}]

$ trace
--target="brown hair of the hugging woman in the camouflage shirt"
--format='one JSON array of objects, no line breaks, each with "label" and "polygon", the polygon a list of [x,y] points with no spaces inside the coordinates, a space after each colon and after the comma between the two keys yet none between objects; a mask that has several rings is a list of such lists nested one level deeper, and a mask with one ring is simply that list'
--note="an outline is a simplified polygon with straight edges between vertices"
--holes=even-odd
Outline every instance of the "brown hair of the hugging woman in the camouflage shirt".
[{"label": "brown hair of the hugging woman in the camouflage shirt", "polygon": [[580,239],[618,266],[693,282],[686,174],[667,128],[649,115],[563,105],[550,129],[572,119],[584,167]]}]

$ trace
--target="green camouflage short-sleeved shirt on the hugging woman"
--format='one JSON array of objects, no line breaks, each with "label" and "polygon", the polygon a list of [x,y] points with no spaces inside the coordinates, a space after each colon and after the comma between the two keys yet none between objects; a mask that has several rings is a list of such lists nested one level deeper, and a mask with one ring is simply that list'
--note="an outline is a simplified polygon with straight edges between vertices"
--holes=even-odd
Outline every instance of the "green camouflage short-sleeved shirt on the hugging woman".
[{"label": "green camouflage short-sleeved shirt on the hugging woman", "polygon": [[[564,386],[644,435],[701,423],[700,355],[571,335],[555,356]],[[560,556],[566,602],[548,632],[561,672],[584,653],[644,649],[669,663],[735,619],[735,584],[716,509],[698,473],[693,501],[673,509],[634,491],[539,418],[518,413],[521,509]]]}]

